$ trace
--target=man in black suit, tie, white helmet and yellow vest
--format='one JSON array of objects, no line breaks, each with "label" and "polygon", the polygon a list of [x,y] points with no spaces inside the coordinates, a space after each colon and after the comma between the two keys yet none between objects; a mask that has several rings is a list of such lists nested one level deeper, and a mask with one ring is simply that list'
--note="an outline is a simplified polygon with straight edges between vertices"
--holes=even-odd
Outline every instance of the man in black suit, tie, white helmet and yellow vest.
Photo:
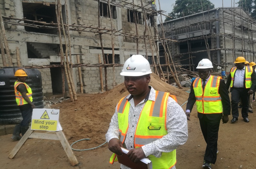
[{"label": "man in black suit, tie, white helmet and yellow vest", "polygon": [[187,119],[190,120],[190,112],[196,102],[197,117],[207,144],[203,167],[208,169],[215,164],[219,152],[217,142],[220,119],[227,123],[231,110],[225,81],[221,77],[210,75],[212,68],[209,59],[203,59],[198,63],[196,69],[199,77],[191,84],[186,107]]}]

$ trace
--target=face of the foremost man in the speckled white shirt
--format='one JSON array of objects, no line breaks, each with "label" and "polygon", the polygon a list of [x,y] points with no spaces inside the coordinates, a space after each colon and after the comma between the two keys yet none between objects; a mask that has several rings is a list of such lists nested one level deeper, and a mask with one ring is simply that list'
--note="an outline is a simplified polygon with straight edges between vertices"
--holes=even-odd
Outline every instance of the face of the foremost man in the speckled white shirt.
[{"label": "face of the foremost man in the speckled white shirt", "polygon": [[124,85],[127,91],[133,96],[143,95],[148,91],[150,76],[124,76]]}]

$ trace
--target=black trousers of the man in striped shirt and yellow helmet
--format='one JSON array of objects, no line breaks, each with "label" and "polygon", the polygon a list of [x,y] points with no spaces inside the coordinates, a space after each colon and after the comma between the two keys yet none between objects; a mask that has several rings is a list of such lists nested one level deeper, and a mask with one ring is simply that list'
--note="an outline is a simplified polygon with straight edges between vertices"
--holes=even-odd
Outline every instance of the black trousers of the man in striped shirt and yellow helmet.
[{"label": "black trousers of the man in striped shirt and yellow helmet", "polygon": [[237,118],[239,116],[238,111],[238,102],[240,101],[240,97],[242,100],[242,117],[248,117],[248,111],[249,111],[249,89],[245,88],[232,88],[231,92],[231,108],[232,108],[232,116]]}]

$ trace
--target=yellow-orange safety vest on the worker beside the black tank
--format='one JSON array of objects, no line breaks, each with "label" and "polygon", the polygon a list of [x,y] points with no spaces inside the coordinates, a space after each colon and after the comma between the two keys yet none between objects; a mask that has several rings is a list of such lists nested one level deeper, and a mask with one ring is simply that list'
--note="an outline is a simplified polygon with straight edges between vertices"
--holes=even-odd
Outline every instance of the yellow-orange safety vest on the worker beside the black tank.
[{"label": "yellow-orange safety vest on the worker beside the black tank", "polygon": [[28,104],[28,102],[22,97],[22,94],[19,91],[17,91],[17,86],[20,84],[24,84],[26,86],[27,91],[28,91],[28,93],[26,93],[26,94],[27,94],[29,100],[31,102],[33,101],[31,88],[26,83],[16,81],[14,83],[14,90],[15,90],[15,96],[16,96],[16,103],[18,106]]}]

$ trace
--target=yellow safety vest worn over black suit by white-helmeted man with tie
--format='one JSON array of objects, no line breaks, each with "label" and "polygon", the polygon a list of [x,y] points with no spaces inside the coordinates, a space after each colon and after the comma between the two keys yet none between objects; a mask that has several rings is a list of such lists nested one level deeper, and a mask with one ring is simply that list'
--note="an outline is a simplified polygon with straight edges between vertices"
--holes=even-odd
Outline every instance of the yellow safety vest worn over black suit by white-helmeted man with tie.
[{"label": "yellow safety vest worn over black suit by white-helmeted man with tie", "polygon": [[196,109],[198,113],[213,114],[222,113],[222,102],[219,94],[221,77],[211,76],[204,87],[202,88],[202,80],[197,77],[193,83],[193,88],[196,96]]}]

